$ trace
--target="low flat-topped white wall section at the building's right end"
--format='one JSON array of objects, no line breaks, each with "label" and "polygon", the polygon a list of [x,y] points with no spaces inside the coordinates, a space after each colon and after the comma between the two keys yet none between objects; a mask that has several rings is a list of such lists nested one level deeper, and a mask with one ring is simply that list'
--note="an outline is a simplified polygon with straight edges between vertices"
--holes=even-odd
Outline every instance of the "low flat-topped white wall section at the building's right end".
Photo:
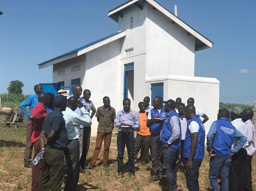
[{"label": "low flat-topped white wall section at the building's right end", "polygon": [[217,120],[220,82],[216,78],[180,75],[156,76],[146,79],[147,83],[155,81],[164,82],[164,100],[175,100],[180,97],[182,102],[187,105],[187,99],[194,98],[194,105],[209,118],[204,124],[207,134],[212,122]]}]

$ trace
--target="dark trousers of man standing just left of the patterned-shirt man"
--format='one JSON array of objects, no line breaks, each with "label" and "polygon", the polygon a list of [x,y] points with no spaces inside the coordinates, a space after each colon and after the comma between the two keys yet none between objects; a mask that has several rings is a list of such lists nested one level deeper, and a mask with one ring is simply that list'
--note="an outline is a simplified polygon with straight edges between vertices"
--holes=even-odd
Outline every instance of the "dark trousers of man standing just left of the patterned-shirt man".
[{"label": "dark trousers of man standing just left of the patterned-shirt man", "polygon": [[80,158],[80,166],[85,165],[86,156],[89,152],[90,140],[91,140],[91,127],[83,127],[83,152]]}]

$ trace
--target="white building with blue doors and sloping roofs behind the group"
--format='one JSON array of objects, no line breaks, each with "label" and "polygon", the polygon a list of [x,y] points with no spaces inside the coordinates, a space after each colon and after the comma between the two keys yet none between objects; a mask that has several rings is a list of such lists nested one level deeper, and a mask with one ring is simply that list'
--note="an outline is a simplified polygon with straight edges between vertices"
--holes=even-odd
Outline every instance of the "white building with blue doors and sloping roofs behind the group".
[{"label": "white building with blue doors and sloping roofs behind the group", "polygon": [[[134,110],[145,96],[180,97],[185,103],[193,97],[210,119],[207,133],[219,109],[219,81],[195,77],[194,62],[195,52],[213,43],[154,0],[129,0],[108,16],[118,23],[118,33],[45,61],[39,69],[53,65],[53,83],[91,90],[96,107],[108,96],[116,112],[124,97]],[[97,125],[93,118],[92,136]]]}]

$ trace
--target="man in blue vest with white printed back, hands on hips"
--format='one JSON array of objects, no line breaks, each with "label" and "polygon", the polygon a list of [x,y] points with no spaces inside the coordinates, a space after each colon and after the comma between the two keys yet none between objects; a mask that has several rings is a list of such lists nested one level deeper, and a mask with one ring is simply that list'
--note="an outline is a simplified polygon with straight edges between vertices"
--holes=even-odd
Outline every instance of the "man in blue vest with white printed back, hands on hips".
[{"label": "man in blue vest with white printed back, hands on hips", "polygon": [[[229,167],[231,156],[238,152],[246,143],[246,137],[229,122],[229,111],[220,109],[217,121],[212,122],[207,134],[207,151],[210,158],[209,180],[213,191],[219,191],[217,178],[221,175],[222,190],[229,190]],[[239,143],[231,150],[233,139]]]}]

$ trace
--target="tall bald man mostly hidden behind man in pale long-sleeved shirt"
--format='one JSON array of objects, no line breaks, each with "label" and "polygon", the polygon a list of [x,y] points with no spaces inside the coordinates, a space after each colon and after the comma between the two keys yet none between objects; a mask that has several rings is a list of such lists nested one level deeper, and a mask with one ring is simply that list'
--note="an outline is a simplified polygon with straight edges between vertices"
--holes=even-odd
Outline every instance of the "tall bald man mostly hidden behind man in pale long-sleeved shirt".
[{"label": "tall bald man mostly hidden behind man in pale long-sleeved shirt", "polygon": [[[85,110],[87,112],[89,112],[89,107],[87,106],[85,100],[80,97],[80,95],[82,94],[82,91],[83,91],[83,89],[80,85],[75,85],[74,88],[73,88],[73,94],[71,96],[76,97],[77,100],[82,102]],[[71,96],[67,97],[67,99],[69,99]],[[81,117],[83,117],[83,113],[81,112],[81,110],[79,108],[77,108],[74,112],[76,114],[79,114]],[[80,156],[79,156],[79,160],[81,159],[82,152],[83,152],[83,131],[84,131],[83,130],[83,125],[80,125],[80,131],[79,131],[79,152],[80,152]],[[84,166],[84,164],[80,163],[80,166]],[[84,169],[80,169],[80,173],[85,173]]]}]

